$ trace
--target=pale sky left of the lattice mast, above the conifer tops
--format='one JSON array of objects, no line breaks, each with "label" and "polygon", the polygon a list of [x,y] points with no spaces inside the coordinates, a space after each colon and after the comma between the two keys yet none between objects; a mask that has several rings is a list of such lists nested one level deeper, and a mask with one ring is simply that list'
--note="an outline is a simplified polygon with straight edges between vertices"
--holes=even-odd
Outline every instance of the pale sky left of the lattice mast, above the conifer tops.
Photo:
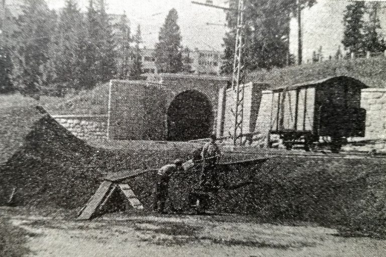
[{"label": "pale sky left of the lattice mast, above the conifer tops", "polygon": [[[46,0],[51,9],[64,6],[64,0]],[[94,0],[98,1],[98,0]],[[158,41],[159,28],[165,21],[169,10],[175,8],[178,12],[182,35],[182,45],[190,49],[221,50],[225,26],[209,26],[206,23],[225,24],[225,12],[219,9],[207,8],[191,4],[190,0],[105,0],[107,12],[123,14],[126,12],[132,31],[141,25],[144,45],[152,48]],[[205,2],[205,0],[198,0]],[[225,0],[214,0],[213,4],[226,6]],[[82,10],[86,10],[88,0],[78,0]]]}]

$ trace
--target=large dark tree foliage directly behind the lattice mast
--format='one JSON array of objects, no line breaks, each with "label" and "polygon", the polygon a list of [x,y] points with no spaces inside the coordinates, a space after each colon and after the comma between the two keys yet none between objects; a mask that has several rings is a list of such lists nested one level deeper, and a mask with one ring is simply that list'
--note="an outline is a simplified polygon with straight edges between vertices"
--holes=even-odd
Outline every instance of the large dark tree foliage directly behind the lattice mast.
[{"label": "large dark tree foliage directly behind the lattice mast", "polygon": [[[315,0],[300,0],[301,8],[310,7]],[[238,1],[230,0],[237,9]],[[297,0],[245,0],[243,28],[243,66],[246,69],[283,67],[289,60],[289,21],[296,16]],[[230,29],[224,37],[222,73],[231,73],[236,41],[237,12],[227,12]]]}]

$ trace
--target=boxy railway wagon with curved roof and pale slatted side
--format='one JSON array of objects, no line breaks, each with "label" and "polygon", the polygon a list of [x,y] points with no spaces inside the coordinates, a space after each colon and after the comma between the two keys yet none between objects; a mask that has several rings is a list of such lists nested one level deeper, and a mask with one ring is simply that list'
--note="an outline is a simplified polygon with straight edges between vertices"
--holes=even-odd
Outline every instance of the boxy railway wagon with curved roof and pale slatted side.
[{"label": "boxy railway wagon with curved roof and pale slatted side", "polygon": [[348,137],[364,137],[362,88],[359,80],[345,76],[276,88],[270,132],[288,150],[303,145],[309,151],[323,142],[337,152]]}]

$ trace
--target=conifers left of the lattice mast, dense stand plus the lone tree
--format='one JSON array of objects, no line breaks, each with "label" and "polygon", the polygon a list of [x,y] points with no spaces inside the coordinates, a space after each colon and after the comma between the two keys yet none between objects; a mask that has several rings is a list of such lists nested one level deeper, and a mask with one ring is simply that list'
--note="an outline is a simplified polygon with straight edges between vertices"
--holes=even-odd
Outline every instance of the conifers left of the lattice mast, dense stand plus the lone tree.
[{"label": "conifers left of the lattice mast, dense stand plus the lone tree", "polygon": [[[177,19],[170,10],[159,33],[155,58],[162,72],[190,70]],[[60,12],[44,0],[24,0],[21,14],[6,16],[1,26],[0,93],[63,96],[113,78],[142,78],[141,28],[132,35],[125,14],[113,22],[104,1],[89,0],[82,13],[74,0]]]}]

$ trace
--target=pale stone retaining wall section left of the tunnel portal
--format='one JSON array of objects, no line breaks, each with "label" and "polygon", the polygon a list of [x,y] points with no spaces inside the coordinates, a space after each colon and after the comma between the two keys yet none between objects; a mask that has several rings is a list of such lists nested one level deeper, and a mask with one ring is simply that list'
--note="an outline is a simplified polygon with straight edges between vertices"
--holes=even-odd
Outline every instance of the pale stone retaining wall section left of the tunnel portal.
[{"label": "pale stone retaining wall section left of the tunnel portal", "polygon": [[52,117],[79,139],[107,138],[108,115],[53,115]]}]

